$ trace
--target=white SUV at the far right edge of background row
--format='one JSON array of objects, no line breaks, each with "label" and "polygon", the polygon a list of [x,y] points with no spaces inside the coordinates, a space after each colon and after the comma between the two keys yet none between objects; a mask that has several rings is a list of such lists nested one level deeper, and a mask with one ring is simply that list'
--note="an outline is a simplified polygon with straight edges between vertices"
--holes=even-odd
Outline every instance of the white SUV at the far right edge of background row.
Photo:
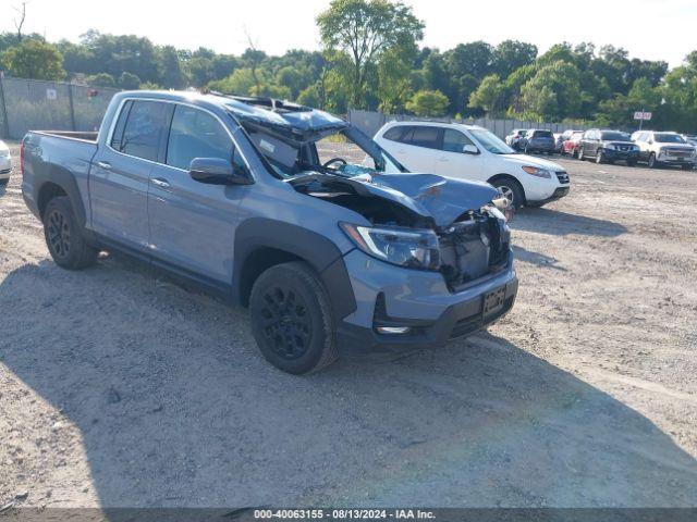
[{"label": "white SUV at the far right edge of background row", "polygon": [[638,130],[632,139],[639,148],[639,161],[646,161],[651,169],[673,165],[689,171],[695,167],[697,149],[677,133]]}]

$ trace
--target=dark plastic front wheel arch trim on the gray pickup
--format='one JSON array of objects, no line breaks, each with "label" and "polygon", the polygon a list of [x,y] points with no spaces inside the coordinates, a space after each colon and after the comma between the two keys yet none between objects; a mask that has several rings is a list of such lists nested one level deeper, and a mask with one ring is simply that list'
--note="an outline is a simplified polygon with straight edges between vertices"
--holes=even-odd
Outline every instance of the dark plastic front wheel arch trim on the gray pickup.
[{"label": "dark plastic front wheel arch trim on the gray pickup", "polygon": [[302,226],[266,217],[246,220],[235,232],[233,301],[246,307],[259,275],[290,261],[304,261],[318,275],[337,319],[356,310],[348,272],[333,241]]}]

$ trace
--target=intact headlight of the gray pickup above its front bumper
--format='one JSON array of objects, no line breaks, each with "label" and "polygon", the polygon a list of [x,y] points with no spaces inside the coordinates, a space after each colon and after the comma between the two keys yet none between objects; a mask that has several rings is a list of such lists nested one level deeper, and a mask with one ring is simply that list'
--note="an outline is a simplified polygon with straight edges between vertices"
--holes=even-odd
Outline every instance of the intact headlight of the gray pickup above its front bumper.
[{"label": "intact headlight of the gray pickup above its front bumper", "polygon": [[360,250],[381,261],[417,270],[438,270],[440,253],[433,231],[339,223]]}]

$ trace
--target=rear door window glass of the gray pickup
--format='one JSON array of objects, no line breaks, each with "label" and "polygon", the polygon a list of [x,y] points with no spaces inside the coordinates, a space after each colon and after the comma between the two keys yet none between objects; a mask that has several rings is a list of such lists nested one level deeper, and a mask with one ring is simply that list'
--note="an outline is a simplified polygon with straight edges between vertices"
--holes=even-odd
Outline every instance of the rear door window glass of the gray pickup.
[{"label": "rear door window glass of the gray pickup", "polygon": [[169,103],[134,101],[123,129],[118,151],[150,161],[158,161],[162,139],[167,134]]}]

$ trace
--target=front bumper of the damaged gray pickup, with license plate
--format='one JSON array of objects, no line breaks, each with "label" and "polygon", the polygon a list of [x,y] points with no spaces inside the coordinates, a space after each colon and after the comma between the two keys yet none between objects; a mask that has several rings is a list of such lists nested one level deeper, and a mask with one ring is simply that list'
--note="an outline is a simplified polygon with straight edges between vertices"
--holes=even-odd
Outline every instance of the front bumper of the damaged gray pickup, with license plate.
[{"label": "front bumper of the damaged gray pickup, with license plate", "polygon": [[[513,308],[517,295],[512,254],[502,272],[473,282],[458,293],[450,293],[439,273],[386,265],[355,250],[345,260],[357,310],[337,327],[339,347],[344,352],[367,355],[442,346],[496,322]],[[383,275],[384,281],[377,284]],[[497,290],[503,303],[485,311],[485,296]],[[377,326],[409,330],[381,334]]]}]

